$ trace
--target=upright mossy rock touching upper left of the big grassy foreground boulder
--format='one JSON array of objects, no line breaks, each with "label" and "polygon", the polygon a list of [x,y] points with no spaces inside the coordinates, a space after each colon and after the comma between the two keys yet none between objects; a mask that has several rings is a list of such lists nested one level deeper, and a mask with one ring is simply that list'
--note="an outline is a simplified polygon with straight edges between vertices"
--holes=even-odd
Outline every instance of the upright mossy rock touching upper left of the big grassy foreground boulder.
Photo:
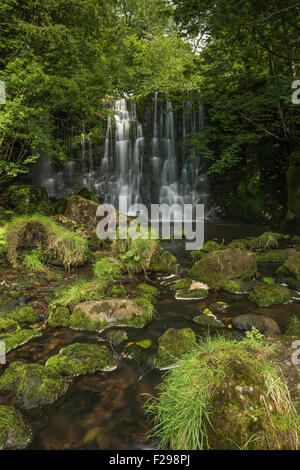
[{"label": "upright mossy rock touching upper left of the big grassy foreground boulder", "polygon": [[190,352],[196,345],[196,335],[191,328],[176,330],[169,328],[158,339],[156,365],[160,369],[168,369]]}]

